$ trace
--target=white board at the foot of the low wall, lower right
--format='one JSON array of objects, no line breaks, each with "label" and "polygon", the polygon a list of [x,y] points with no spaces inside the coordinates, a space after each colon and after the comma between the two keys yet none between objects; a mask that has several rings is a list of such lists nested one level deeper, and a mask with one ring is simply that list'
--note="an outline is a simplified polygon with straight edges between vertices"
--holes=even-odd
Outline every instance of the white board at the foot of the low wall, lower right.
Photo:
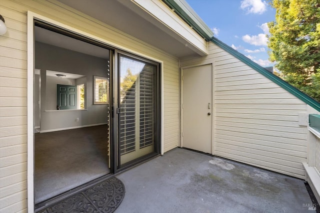
[{"label": "white board at the foot of the low wall, lower right", "polygon": [[302,163],[306,172],[306,181],[310,185],[312,192],[318,202],[320,202],[320,173],[315,167],[309,167],[307,163]]}]

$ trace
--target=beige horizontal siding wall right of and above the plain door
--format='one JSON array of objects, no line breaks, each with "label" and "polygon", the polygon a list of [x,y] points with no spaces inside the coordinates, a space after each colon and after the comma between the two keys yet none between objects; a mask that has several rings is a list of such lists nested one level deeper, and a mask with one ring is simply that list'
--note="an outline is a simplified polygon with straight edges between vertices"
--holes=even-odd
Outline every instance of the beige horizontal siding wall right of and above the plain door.
[{"label": "beige horizontal siding wall right of and above the plain door", "polygon": [[214,67],[214,155],[304,178],[307,105],[217,45],[181,66]]}]

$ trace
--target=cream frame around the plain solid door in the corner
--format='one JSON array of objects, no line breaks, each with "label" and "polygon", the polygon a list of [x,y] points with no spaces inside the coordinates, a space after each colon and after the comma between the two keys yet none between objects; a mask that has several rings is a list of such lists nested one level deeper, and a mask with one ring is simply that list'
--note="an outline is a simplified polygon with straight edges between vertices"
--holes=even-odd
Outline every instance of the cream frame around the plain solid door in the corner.
[{"label": "cream frame around the plain solid door in the corner", "polygon": [[211,72],[212,72],[212,123],[211,123],[211,155],[214,155],[214,118],[215,118],[215,107],[214,107],[214,64],[213,63],[198,63],[198,64],[192,64],[188,66],[182,66],[180,68],[180,148],[183,148],[183,70],[188,69],[188,68],[195,68],[199,66],[204,66],[204,65],[211,65]]}]

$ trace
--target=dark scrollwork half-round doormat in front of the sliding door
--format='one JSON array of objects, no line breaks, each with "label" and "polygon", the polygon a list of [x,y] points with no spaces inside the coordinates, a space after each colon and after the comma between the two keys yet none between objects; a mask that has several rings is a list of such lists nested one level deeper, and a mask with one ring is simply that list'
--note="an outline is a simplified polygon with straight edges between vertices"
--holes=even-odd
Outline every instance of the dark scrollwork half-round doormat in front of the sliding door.
[{"label": "dark scrollwork half-round doormat in front of the sliding door", "polygon": [[37,213],[112,213],[124,194],[123,183],[110,178]]}]

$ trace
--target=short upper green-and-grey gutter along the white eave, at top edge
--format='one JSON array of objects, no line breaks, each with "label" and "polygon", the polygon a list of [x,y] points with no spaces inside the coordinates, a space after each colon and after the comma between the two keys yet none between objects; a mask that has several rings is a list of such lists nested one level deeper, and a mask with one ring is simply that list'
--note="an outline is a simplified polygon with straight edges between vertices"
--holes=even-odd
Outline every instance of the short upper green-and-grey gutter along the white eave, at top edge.
[{"label": "short upper green-and-grey gutter along the white eave, at top edge", "polygon": [[162,0],[191,26],[202,38],[209,41],[213,37],[212,30],[196,14],[185,0]]}]

